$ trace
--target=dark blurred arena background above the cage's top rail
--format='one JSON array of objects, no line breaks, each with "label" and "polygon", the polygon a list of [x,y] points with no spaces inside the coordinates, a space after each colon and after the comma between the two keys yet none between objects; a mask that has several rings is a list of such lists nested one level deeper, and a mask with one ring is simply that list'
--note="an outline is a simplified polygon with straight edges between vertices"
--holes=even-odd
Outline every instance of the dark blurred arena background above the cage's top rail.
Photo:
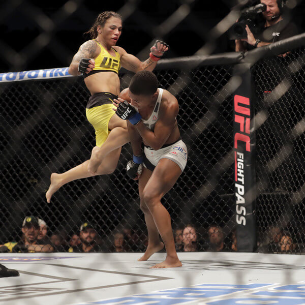
[{"label": "dark blurred arena background above the cage's top rail", "polygon": [[[237,3],[237,0],[5,0],[0,3],[0,72],[67,67],[80,44],[88,39],[82,34],[106,10],[124,12],[124,29],[118,45],[141,60],[147,58],[149,46],[157,37],[170,45],[167,58],[190,56],[206,42],[214,41],[209,31]],[[186,17],[166,34],[162,33],[164,26],[158,28],[168,18],[188,10]],[[298,1],[292,10],[293,20],[301,31],[304,11],[303,1]],[[226,34],[215,42],[212,53],[233,50]]]}]

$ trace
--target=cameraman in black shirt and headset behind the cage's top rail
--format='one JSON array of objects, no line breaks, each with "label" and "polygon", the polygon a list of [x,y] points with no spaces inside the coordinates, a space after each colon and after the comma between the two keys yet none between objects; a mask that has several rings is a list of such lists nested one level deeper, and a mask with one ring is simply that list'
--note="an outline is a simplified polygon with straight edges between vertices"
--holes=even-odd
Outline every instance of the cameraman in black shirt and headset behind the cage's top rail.
[{"label": "cameraman in black shirt and headset behind the cage's top rail", "polygon": [[[285,0],[261,0],[260,2],[266,5],[266,10],[261,13],[265,20],[262,31],[254,37],[249,26],[246,25],[248,37],[246,39],[235,40],[236,52],[266,46],[270,43],[297,35],[295,24],[283,18]],[[283,56],[286,54],[283,54]]]}]

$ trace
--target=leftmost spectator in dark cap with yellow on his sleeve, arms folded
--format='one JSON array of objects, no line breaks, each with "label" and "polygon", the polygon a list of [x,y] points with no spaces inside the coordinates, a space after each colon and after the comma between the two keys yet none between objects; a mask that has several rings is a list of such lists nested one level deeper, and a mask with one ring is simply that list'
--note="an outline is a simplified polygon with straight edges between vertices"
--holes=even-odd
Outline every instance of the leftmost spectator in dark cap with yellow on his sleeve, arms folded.
[{"label": "leftmost spectator in dark cap with yellow on his sleeve, arms folded", "polygon": [[[35,216],[27,216],[22,223],[22,239],[19,242],[7,242],[3,246],[7,248],[7,252],[53,252],[54,247],[51,243],[41,243],[38,240],[40,226],[38,218]],[[2,252],[4,247],[2,248]]]}]

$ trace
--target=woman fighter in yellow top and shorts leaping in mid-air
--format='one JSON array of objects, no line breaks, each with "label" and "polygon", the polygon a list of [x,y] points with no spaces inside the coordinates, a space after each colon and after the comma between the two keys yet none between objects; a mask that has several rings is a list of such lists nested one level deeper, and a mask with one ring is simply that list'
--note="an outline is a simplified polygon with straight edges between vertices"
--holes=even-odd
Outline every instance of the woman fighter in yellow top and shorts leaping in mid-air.
[{"label": "woman fighter in yellow top and shorts leaping in mid-air", "polygon": [[[91,97],[86,106],[86,116],[95,129],[96,146],[90,160],[64,172],[52,173],[46,193],[47,202],[66,183],[95,175],[112,173],[117,165],[121,146],[129,142],[126,121],[114,115],[113,99],[119,96],[118,71],[120,67],[133,72],[153,71],[157,61],[168,50],[168,45],[156,41],[149,58],[141,62],[137,57],[116,46],[122,31],[121,16],[103,12],[96,19],[90,34],[92,40],[83,43],[69,67],[71,75],[84,75]],[[124,96],[121,96],[124,98]],[[111,153],[111,154],[109,154]]]}]

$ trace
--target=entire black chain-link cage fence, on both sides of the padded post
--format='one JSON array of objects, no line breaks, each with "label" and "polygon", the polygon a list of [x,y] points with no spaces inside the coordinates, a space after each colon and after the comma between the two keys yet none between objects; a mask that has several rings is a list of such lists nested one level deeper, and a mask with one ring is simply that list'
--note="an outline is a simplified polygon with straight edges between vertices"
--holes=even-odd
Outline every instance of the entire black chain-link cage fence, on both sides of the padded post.
[{"label": "entire black chain-link cage fence, on both sides of the padded post", "polygon": [[[210,56],[208,63],[201,60],[199,66],[190,65],[191,57],[164,60],[155,71],[160,86],[179,101],[177,121],[189,149],[186,170],[163,198],[178,251],[182,251],[178,235],[187,224],[197,231],[197,251],[216,250],[210,243],[210,227],[221,231],[222,251],[236,250],[232,74],[241,58],[236,53],[227,55]],[[231,64],[220,59],[230,56]],[[258,251],[301,253],[304,50],[262,59],[251,73],[256,97]],[[130,78],[130,74],[120,75],[121,89]],[[5,217],[0,242],[18,241],[24,217],[34,215],[46,222],[49,236],[60,231],[67,243],[88,222],[98,232],[97,251],[115,251],[116,233],[124,235],[125,251],[143,251],[147,235],[137,182],[128,179],[125,170],[130,144],[123,147],[113,174],[70,182],[50,204],[45,201],[50,173],[87,160],[95,145],[94,130],[84,113],[89,93],[82,78],[2,83],[0,90],[4,105],[0,201]]]}]

